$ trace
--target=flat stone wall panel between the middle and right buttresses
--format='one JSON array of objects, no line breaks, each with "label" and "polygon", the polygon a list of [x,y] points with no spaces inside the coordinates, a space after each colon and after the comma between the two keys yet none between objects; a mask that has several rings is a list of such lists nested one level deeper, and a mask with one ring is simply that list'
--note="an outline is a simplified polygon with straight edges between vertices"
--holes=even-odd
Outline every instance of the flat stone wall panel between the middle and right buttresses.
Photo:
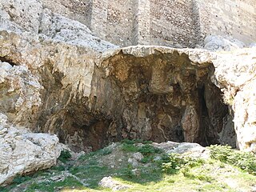
[{"label": "flat stone wall panel between the middle and right buttresses", "polygon": [[150,44],[194,47],[192,2],[150,0]]}]

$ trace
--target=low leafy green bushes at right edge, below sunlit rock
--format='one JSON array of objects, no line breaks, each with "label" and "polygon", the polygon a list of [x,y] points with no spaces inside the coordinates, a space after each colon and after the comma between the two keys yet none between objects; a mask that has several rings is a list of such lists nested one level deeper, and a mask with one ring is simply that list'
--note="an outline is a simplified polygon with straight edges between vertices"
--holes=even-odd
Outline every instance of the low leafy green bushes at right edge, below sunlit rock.
[{"label": "low leafy green bushes at right edge, below sunlit rock", "polygon": [[256,155],[249,152],[232,150],[231,146],[212,145],[210,149],[210,158],[221,162],[238,166],[250,174],[256,175]]}]

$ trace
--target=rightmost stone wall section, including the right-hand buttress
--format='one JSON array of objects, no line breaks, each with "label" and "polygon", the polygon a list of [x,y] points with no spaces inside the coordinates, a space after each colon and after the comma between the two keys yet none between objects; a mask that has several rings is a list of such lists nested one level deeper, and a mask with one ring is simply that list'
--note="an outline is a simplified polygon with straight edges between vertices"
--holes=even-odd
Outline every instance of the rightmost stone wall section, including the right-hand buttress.
[{"label": "rightmost stone wall section, including the right-hand buttress", "polygon": [[256,2],[252,0],[197,0],[202,36],[228,35],[250,43],[256,41]]}]

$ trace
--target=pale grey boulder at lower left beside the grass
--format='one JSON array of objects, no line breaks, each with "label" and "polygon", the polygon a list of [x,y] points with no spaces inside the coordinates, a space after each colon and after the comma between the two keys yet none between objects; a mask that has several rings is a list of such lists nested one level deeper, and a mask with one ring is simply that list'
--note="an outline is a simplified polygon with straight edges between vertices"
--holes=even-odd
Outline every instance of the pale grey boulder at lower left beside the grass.
[{"label": "pale grey boulder at lower left beside the grass", "polygon": [[11,126],[0,114],[0,185],[17,175],[53,166],[61,153],[56,135],[32,134],[24,127]]}]

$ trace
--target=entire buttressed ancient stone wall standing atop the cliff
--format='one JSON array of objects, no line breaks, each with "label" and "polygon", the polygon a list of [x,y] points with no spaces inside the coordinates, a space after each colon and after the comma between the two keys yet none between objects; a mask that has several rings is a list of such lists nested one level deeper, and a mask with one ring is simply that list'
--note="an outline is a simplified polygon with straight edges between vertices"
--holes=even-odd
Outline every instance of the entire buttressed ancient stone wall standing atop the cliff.
[{"label": "entire buttressed ancient stone wall standing atop the cliff", "polygon": [[[256,42],[254,0],[43,0],[44,6],[78,20],[119,46],[194,47],[206,35]],[[56,6],[58,4],[59,6]]]}]

